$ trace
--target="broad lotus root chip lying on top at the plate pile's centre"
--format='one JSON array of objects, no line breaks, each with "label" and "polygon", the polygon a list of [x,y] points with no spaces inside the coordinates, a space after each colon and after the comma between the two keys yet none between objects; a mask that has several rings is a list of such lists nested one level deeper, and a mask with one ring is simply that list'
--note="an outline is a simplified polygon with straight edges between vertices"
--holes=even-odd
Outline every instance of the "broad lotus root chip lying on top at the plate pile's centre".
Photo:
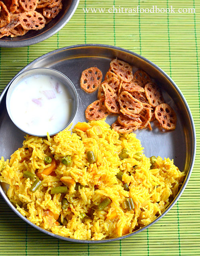
[{"label": "broad lotus root chip lying on top at the plate pile's centre", "polygon": [[126,91],[120,93],[118,102],[120,103],[120,109],[128,116],[135,117],[135,114],[139,114],[143,109],[142,103]]}]

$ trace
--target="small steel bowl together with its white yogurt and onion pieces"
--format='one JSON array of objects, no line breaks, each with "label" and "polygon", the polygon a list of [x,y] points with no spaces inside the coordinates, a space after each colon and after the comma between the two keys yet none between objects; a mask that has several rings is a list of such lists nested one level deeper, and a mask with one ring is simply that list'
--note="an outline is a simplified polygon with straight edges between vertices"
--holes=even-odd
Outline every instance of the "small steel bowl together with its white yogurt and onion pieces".
[{"label": "small steel bowl together with its white yogurt and onion pieces", "polygon": [[12,81],[6,107],[14,124],[25,133],[54,135],[72,122],[78,109],[78,95],[62,73],[47,68],[31,69]]}]

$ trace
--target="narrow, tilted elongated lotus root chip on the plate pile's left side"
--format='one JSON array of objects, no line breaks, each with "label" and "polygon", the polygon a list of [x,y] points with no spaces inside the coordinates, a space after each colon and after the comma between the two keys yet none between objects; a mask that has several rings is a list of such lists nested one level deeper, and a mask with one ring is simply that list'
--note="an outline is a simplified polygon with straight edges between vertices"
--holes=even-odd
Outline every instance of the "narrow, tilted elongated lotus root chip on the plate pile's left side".
[{"label": "narrow, tilted elongated lotus root chip on the plate pile's left side", "polygon": [[108,83],[102,83],[102,88],[105,93],[105,106],[110,113],[119,114],[119,104],[117,101],[117,95],[114,90],[108,85]]}]

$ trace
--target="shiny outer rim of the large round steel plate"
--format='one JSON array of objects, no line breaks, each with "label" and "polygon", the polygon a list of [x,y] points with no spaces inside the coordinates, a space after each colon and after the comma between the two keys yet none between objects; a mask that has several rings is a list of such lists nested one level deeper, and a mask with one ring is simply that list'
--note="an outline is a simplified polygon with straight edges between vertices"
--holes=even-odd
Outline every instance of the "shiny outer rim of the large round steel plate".
[{"label": "shiny outer rim of the large round steel plate", "polygon": [[190,176],[191,176],[191,173],[192,173],[192,169],[194,167],[194,161],[195,161],[195,155],[196,155],[196,130],[195,130],[195,126],[194,126],[194,120],[193,120],[193,117],[192,117],[192,113],[190,111],[190,108],[188,106],[188,103],[184,97],[184,95],[182,94],[182,92],[180,91],[180,89],[178,88],[178,86],[176,85],[176,83],[171,79],[171,77],[169,75],[167,75],[167,73],[165,71],[163,71],[160,67],[158,67],[156,64],[154,64],[152,61],[148,60],[147,58],[141,56],[140,54],[137,54],[135,52],[132,52],[130,50],[126,50],[124,48],[121,48],[121,47],[118,47],[118,46],[112,46],[112,45],[108,45],[108,44],[76,44],[76,45],[72,45],[72,46],[66,46],[66,47],[63,47],[63,48],[59,48],[59,49],[56,49],[56,50],[53,50],[51,52],[48,52],[38,58],[36,58],[35,60],[33,60],[32,62],[30,62],[28,65],[26,65],[21,71],[19,71],[11,80],[10,82],[8,83],[8,85],[4,88],[4,90],[2,91],[2,94],[0,95],[0,102],[2,101],[2,98],[4,97],[4,94],[7,92],[8,90],[8,87],[10,86],[10,84],[12,83],[12,81],[15,79],[16,76],[18,76],[20,73],[22,73],[24,71],[24,69],[27,69],[27,67],[29,67],[30,65],[33,65],[34,63],[38,62],[38,60],[42,60],[43,58],[46,58],[46,56],[50,55],[50,54],[54,54],[56,52],[59,52],[59,51],[62,51],[62,50],[70,50],[72,48],[80,48],[80,47],[102,47],[102,48],[110,48],[110,49],[114,49],[114,50],[120,50],[122,52],[125,52],[125,53],[128,53],[128,54],[131,54],[131,55],[134,55],[146,62],[148,62],[150,65],[152,65],[154,68],[156,68],[158,71],[160,71],[162,73],[162,75],[164,75],[169,81],[170,83],[172,83],[173,87],[176,89],[176,91],[178,92],[178,94],[180,95],[180,97],[182,98],[183,102],[184,102],[184,105],[187,109],[187,112],[188,112],[188,115],[189,115],[189,119],[190,119],[190,122],[191,122],[191,127],[192,127],[192,137],[193,137],[193,140],[192,140],[192,148],[191,148],[191,151],[192,151],[192,157],[191,157],[191,161],[190,161],[190,169],[188,170],[188,173],[187,173],[187,177],[186,177],[186,180],[184,182],[184,184],[182,185],[180,191],[178,192],[178,194],[176,195],[176,198],[174,198],[173,202],[166,208],[166,210],[160,215],[158,216],[154,221],[152,221],[150,224],[144,226],[143,228],[140,228],[130,234],[127,234],[125,236],[120,236],[120,237],[117,237],[117,238],[109,238],[109,239],[104,239],[104,240],[79,240],[79,239],[74,239],[74,238],[68,238],[68,237],[64,237],[64,236],[59,236],[59,235],[56,235],[56,234],[53,234],[47,230],[44,230],[42,228],[40,228],[39,226],[36,226],[35,224],[33,224],[32,222],[30,222],[26,217],[24,217],[22,214],[20,214],[20,212],[12,205],[12,203],[10,202],[10,200],[7,198],[6,194],[4,193],[1,185],[0,185],[0,194],[1,196],[3,197],[3,199],[5,200],[5,202],[8,204],[8,206],[13,210],[13,212],[15,214],[17,214],[22,220],[24,220],[27,224],[29,224],[30,226],[36,228],[37,230],[45,233],[45,234],[48,234],[50,236],[53,236],[55,238],[58,238],[58,239],[61,239],[61,240],[66,240],[66,241],[69,241],[69,242],[76,242],[76,243],[87,243],[87,244],[97,244],[97,243],[105,243],[105,242],[114,242],[116,240],[121,240],[121,239],[124,239],[124,238],[128,238],[130,236],[133,236],[133,235],[136,235],[138,234],[139,232],[141,231],[144,231],[146,230],[147,228],[149,228],[150,226],[152,226],[154,223],[156,223],[158,220],[160,220],[163,216],[165,216],[165,214],[167,214],[171,208],[176,204],[176,202],[178,201],[178,199],[180,198],[180,196],[182,195],[189,179],[190,179]]}]

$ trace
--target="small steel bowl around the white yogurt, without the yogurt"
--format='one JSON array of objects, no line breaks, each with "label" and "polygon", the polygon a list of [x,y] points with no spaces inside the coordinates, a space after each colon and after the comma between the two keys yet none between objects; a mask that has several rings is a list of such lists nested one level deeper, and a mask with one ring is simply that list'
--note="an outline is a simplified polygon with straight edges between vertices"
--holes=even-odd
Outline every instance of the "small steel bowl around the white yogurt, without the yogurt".
[{"label": "small steel bowl around the white yogurt, without the yogurt", "polygon": [[68,127],[68,125],[70,125],[70,123],[72,123],[72,120],[74,119],[76,112],[78,110],[78,94],[77,94],[76,88],[74,87],[72,81],[70,81],[70,79],[68,79],[68,77],[66,77],[64,74],[62,74],[61,72],[59,72],[57,70],[49,69],[49,68],[36,68],[36,69],[29,69],[28,71],[24,71],[23,73],[20,73],[12,81],[12,83],[8,89],[7,96],[6,96],[6,108],[8,111],[8,115],[9,115],[10,119],[12,120],[12,122],[24,133],[28,133],[30,135],[38,136],[38,137],[46,137],[46,134],[32,134],[32,133],[29,133],[28,131],[22,129],[19,125],[17,125],[15,123],[15,121],[12,117],[12,113],[10,111],[10,97],[11,97],[13,89],[18,85],[18,83],[20,81],[22,81],[22,79],[25,79],[26,77],[30,77],[32,75],[49,75],[49,76],[52,76],[52,77],[58,79],[66,86],[67,91],[70,95],[70,98],[72,99],[72,111],[70,113],[70,120],[68,121],[68,123],[65,124],[64,127],[62,127],[62,129],[56,131],[55,133],[50,134],[50,136],[55,135],[59,131],[63,131],[64,129],[66,129],[66,127]]}]

